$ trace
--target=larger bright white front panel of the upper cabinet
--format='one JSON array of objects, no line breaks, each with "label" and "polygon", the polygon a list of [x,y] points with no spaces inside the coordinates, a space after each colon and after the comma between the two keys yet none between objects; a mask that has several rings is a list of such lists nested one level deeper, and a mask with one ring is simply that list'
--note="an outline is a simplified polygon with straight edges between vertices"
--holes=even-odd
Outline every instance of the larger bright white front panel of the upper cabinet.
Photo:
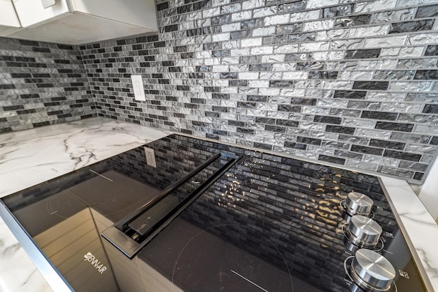
[{"label": "larger bright white front panel of the upper cabinet", "polygon": [[[0,0],[1,1],[1,0]],[[56,0],[55,5],[49,8],[44,8],[41,0],[13,0],[23,27],[29,27],[43,21],[53,20],[68,12],[73,12],[68,9],[70,2],[67,0]]]}]

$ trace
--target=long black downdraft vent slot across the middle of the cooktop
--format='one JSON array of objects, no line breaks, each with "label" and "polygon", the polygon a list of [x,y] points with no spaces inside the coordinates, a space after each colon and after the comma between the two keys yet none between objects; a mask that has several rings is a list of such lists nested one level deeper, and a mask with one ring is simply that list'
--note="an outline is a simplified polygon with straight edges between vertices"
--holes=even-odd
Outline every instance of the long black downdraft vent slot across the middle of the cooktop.
[{"label": "long black downdraft vent slot across the middle of the cooktop", "polygon": [[173,183],[107,230],[102,237],[133,258],[179,213],[229,170],[242,156],[224,152],[214,155],[187,176]]}]

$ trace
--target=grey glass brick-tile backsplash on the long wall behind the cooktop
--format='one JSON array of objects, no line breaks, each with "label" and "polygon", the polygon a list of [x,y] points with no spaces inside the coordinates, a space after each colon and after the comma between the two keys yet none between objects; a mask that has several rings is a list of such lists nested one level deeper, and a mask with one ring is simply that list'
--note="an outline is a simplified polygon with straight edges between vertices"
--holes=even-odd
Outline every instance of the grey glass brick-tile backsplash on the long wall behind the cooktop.
[{"label": "grey glass brick-tile backsplash on the long wall behind the cooktop", "polygon": [[159,34],[71,51],[99,116],[424,179],[438,1],[159,0],[157,15]]}]

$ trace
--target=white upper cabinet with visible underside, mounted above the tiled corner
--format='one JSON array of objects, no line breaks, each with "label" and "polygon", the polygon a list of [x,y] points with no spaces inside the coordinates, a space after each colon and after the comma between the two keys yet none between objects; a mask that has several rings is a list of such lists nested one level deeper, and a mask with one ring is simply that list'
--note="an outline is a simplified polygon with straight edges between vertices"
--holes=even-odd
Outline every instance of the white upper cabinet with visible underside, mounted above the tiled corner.
[{"label": "white upper cabinet with visible underside, mounted above the tiled corner", "polygon": [[86,44],[158,29],[154,0],[13,0],[13,3],[23,28],[8,34],[10,38]]}]

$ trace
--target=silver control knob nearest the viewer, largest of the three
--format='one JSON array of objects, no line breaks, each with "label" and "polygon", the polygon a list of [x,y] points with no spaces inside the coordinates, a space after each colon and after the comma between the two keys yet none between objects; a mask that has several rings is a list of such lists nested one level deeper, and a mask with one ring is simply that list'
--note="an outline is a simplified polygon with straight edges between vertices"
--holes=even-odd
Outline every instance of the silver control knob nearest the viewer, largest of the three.
[{"label": "silver control knob nearest the viewer, largest of the three", "polygon": [[396,270],[389,261],[372,250],[357,250],[351,263],[350,276],[359,287],[367,291],[391,289]]}]

